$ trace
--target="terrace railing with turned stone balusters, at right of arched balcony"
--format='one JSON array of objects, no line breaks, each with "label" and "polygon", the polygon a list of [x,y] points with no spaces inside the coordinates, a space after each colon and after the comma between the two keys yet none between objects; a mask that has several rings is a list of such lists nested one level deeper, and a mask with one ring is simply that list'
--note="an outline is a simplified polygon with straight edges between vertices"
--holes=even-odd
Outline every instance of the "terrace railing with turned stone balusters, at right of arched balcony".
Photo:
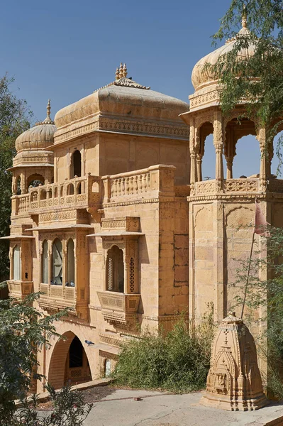
[{"label": "terrace railing with turned stone balusters, at right of arched balcony", "polygon": [[158,197],[160,193],[172,196],[174,170],[172,165],[152,165],[133,172],[104,176],[104,203]]}]

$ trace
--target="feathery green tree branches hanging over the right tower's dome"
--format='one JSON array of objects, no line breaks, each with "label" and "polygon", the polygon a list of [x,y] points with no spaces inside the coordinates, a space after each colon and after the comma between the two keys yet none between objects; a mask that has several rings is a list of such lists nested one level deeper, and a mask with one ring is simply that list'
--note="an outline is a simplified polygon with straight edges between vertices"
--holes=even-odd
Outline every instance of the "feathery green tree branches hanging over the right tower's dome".
[{"label": "feathery green tree branches hanging over the right tower's dome", "polygon": [[[243,18],[248,30],[239,35]],[[221,107],[226,114],[245,99],[249,118],[256,114],[263,126],[271,125],[273,138],[282,124],[282,0],[232,0],[213,40],[233,37],[233,49],[208,65],[223,87]],[[254,54],[240,58],[250,45],[255,46]]]}]

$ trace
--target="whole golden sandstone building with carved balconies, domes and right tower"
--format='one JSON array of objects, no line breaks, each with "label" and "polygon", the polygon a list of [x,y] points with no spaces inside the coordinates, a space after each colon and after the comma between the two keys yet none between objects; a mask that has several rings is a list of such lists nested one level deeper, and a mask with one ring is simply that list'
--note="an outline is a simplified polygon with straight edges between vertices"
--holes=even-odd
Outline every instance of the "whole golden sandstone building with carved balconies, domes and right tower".
[{"label": "whole golden sandstone building with carved balconies, domes and right tower", "polygon": [[[228,283],[237,259],[249,255],[255,197],[267,222],[283,226],[283,180],[271,175],[265,129],[239,124],[243,105],[223,116],[221,87],[204,70],[233,43],[195,65],[189,104],[128,78],[121,64],[113,82],[54,121],[49,102],[46,119],[18,136],[9,293],[40,290],[36,305],[46,315],[72,308],[56,324],[67,339],[38,351],[38,372],[55,388],[109,374],[121,341],[170,329],[179,312],[197,321],[213,305],[223,320],[235,302]],[[242,53],[252,54],[253,46]],[[203,180],[210,134],[216,177]],[[260,173],[233,178],[246,135],[259,143]]]}]

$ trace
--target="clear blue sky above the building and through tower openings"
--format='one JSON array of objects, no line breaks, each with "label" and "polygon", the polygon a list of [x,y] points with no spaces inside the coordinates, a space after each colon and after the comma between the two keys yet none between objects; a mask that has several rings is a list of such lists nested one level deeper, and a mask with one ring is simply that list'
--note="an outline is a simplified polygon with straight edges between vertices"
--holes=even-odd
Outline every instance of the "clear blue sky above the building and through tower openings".
[{"label": "clear blue sky above the building and through tower openings", "polygon": [[[229,4],[229,0],[6,1],[0,16],[0,76],[9,72],[16,78],[13,89],[27,100],[34,121],[45,118],[48,98],[54,116],[58,109],[113,81],[120,62],[126,62],[133,80],[187,101],[193,92],[192,68],[213,50],[210,37]],[[257,173],[259,160],[252,145],[245,141],[245,162],[239,162],[236,174]],[[206,174],[212,176],[209,144],[206,152]]]}]

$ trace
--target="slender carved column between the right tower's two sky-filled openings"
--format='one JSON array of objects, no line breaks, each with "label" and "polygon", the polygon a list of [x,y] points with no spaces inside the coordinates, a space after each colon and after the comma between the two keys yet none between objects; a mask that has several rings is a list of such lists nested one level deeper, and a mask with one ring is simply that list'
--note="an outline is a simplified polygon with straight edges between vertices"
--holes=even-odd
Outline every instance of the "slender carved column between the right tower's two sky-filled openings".
[{"label": "slender carved column between the right tower's two sky-filled openings", "polygon": [[221,111],[216,111],[213,124],[213,145],[216,152],[216,191],[223,190],[223,121]]}]

